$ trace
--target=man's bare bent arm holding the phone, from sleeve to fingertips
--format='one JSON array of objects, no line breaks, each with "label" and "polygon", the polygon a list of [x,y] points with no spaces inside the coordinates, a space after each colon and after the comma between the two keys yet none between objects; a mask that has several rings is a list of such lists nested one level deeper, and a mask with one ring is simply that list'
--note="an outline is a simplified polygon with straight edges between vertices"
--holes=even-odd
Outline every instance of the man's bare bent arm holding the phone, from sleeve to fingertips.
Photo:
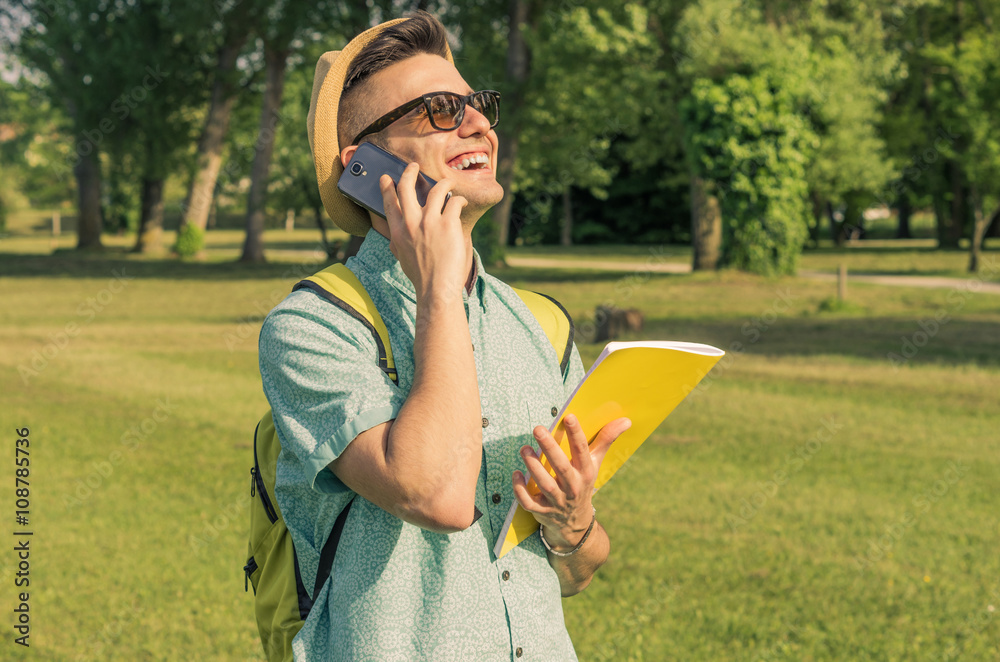
[{"label": "man's bare bent arm holding the phone, from sleeve to fingertips", "polygon": [[[412,170],[400,179],[400,188],[415,179]],[[385,187],[383,194],[393,252],[416,289],[413,385],[394,420],[359,434],[329,468],[396,517],[452,533],[472,524],[482,463],[479,384],[461,295],[472,264],[458,218],[464,201],[453,198],[444,213],[414,208],[408,183],[412,200],[401,192],[396,203]],[[441,209],[447,190],[436,186],[425,209]],[[436,218],[421,223],[421,213]]]}]

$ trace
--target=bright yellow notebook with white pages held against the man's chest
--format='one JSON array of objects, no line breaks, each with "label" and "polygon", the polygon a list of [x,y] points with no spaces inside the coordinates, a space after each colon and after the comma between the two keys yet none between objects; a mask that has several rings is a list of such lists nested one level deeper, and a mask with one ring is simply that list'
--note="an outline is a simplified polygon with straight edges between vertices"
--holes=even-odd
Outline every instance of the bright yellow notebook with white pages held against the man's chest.
[{"label": "bright yellow notebook with white pages held against the man's chest", "polygon": [[[611,444],[601,462],[594,483],[594,489],[600,489],[724,355],[721,349],[699,343],[608,343],[563,405],[549,432],[563,452],[571,456],[563,427],[567,413],[576,415],[589,443],[616,418],[626,416],[632,420],[632,427]],[[555,475],[547,459],[542,464]],[[534,482],[530,487],[537,493]],[[537,530],[534,516],[515,501],[493,553],[500,558]]]}]

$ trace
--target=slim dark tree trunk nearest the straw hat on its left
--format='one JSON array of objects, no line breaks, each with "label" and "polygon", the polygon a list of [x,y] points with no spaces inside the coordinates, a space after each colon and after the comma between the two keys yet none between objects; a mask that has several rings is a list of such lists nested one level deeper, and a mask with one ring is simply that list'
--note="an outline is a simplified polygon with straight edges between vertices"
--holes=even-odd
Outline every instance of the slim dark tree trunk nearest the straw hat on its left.
[{"label": "slim dark tree trunk nearest the straw hat on its left", "polygon": [[247,196],[246,241],[242,262],[264,261],[264,204],[267,201],[267,177],[274,152],[274,136],[278,131],[281,95],[285,87],[285,66],[288,49],[264,45],[266,83],[260,110],[260,132],[250,171],[250,194]]}]

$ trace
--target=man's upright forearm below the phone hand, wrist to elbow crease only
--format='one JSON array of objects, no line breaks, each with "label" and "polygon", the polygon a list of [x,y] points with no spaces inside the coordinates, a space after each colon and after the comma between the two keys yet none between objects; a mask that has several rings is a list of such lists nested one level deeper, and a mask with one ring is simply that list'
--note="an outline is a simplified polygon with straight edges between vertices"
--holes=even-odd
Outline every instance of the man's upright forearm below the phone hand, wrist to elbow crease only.
[{"label": "man's upright forearm below the phone hand, wrist to elbow crease only", "polygon": [[[471,520],[482,462],[482,415],[460,291],[418,293],[414,380],[389,432],[386,462],[412,503]],[[466,512],[467,511],[467,512]],[[450,515],[449,515],[450,513]]]}]

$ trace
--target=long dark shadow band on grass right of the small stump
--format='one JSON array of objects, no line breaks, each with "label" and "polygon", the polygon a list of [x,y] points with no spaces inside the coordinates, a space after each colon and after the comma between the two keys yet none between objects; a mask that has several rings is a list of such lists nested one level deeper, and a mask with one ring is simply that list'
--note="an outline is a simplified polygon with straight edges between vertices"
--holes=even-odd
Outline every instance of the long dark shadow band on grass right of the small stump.
[{"label": "long dark shadow band on grass right of the small stump", "polygon": [[[935,324],[937,327],[935,328]],[[763,330],[727,320],[647,320],[643,337],[688,340],[764,356],[849,356],[908,365],[1000,367],[1000,334],[994,321],[953,318],[941,324],[931,316],[782,318]],[[589,339],[588,339],[589,340]],[[742,349],[739,349],[739,348]]]}]

